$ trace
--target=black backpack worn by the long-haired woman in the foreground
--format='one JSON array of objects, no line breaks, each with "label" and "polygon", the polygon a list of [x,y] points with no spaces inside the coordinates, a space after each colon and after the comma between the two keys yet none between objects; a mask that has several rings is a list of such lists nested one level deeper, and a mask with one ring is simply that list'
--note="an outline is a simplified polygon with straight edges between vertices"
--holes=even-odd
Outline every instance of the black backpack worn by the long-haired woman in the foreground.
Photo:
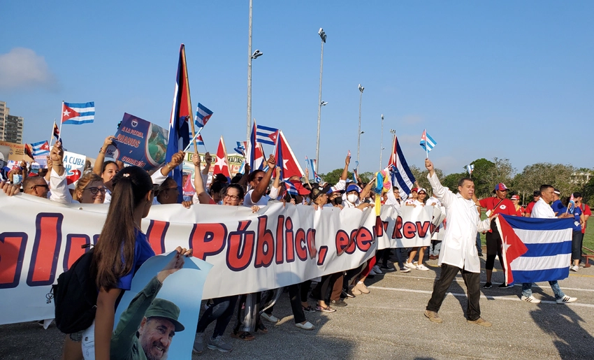
[{"label": "black backpack worn by the long-haired woman in the foreground", "polygon": [[56,326],[63,333],[83,331],[93,324],[97,287],[92,275],[93,249],[83,254],[52,285]]}]

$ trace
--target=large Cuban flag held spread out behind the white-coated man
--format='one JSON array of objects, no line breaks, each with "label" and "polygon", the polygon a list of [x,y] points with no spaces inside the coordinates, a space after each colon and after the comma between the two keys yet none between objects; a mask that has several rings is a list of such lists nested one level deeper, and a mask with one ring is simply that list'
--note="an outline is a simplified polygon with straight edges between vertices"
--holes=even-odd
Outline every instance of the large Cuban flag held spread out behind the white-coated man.
[{"label": "large Cuban flag held spread out behind the white-coated man", "polygon": [[563,280],[570,275],[573,219],[499,215],[496,221],[513,275],[508,284]]}]

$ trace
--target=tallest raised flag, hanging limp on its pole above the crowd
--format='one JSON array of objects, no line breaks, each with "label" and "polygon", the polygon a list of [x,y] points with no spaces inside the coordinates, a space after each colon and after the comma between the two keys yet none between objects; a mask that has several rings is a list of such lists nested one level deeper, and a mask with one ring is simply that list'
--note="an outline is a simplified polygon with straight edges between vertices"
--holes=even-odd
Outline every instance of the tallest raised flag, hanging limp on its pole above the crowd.
[{"label": "tallest raised flag, hanging limp on its pole above the crowd", "polygon": [[[178,61],[178,75],[175,78],[175,90],[173,92],[173,107],[171,108],[171,119],[169,120],[169,138],[167,143],[166,163],[171,161],[173,154],[184,150],[190,142],[189,125],[191,124],[191,101],[186,66],[186,50],[184,44],[180,47],[180,59]],[[182,184],[183,164],[172,169],[171,177],[178,183],[178,203],[183,201]]]}]

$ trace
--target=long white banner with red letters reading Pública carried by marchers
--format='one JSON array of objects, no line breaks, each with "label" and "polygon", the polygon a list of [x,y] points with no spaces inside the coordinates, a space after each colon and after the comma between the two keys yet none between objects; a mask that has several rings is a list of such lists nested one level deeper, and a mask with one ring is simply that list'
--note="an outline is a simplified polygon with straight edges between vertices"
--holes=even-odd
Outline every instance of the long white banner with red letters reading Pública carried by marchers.
[{"label": "long white banner with red letters reading P\u00fablica carried by marchers", "polygon": [[[0,192],[0,324],[54,317],[46,295],[85,252],[81,245],[96,243],[107,210]],[[433,208],[405,207],[403,215],[390,206],[380,222],[372,208],[271,203],[254,214],[243,207],[159,205],[143,219],[143,231],[157,254],[190,247],[212,264],[203,298],[217,298],[356,268],[385,247],[428,245]]]}]

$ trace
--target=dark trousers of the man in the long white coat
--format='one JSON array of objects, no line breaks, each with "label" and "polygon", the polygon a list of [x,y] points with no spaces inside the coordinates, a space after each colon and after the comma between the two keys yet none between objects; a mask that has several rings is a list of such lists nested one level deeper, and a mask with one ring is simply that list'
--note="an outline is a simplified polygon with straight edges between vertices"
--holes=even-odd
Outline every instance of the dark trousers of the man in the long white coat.
[{"label": "dark trousers of the man in the long white coat", "polygon": [[456,278],[458,271],[462,272],[462,278],[466,289],[468,289],[468,308],[466,309],[466,319],[474,321],[481,317],[481,307],[479,299],[481,298],[481,274],[470,273],[462,268],[449,264],[442,264],[442,273],[440,278],[433,285],[433,294],[427,304],[427,310],[438,312],[442,307],[446,291],[451,282]]}]

